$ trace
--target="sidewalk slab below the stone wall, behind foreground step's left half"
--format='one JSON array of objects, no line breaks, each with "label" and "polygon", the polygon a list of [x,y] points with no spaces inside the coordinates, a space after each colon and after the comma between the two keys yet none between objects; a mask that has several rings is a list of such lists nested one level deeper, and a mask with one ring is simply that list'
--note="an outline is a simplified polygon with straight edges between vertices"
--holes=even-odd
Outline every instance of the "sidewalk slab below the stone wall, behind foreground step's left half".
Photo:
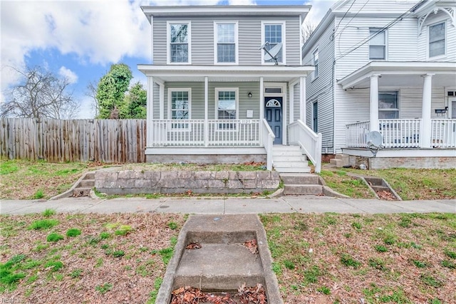
[{"label": "sidewalk slab below the stone wall, behind foreground step's left half", "polygon": [[160,213],[223,214],[223,199],[167,199],[155,209]]}]

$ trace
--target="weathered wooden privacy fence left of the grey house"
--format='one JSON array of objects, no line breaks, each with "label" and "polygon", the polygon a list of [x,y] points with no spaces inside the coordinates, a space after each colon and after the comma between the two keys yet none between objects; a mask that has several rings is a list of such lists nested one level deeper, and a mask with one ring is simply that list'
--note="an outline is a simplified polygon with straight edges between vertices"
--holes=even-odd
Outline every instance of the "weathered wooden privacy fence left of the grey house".
[{"label": "weathered wooden privacy fence left of the grey house", "polygon": [[2,159],[145,162],[145,120],[0,118]]}]

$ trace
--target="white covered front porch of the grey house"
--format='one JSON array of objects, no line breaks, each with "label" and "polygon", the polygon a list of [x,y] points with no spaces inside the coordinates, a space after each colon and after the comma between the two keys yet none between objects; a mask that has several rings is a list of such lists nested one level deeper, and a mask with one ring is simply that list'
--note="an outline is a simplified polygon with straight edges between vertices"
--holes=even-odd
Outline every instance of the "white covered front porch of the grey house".
[{"label": "white covered front porch of the grey house", "polygon": [[[306,76],[314,67],[138,65],[138,69],[147,76],[146,155],[199,155],[219,162],[249,155],[259,159],[255,158],[259,155],[271,169],[272,147],[289,145],[289,125],[304,120]],[[175,115],[171,109],[171,91],[177,88],[185,88],[191,100],[185,115]],[[220,92],[232,93],[232,104],[223,108]]]}]

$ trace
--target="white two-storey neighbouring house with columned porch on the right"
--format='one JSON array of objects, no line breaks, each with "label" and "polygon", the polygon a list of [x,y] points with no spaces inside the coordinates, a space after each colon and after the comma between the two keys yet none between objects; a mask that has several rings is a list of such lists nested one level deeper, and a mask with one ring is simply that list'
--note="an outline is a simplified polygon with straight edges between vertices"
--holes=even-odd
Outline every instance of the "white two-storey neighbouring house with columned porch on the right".
[{"label": "white two-storey neighbouring house with columned porch on the right", "polygon": [[[456,1],[342,0],[303,47],[306,124],[371,167],[456,167]],[[383,146],[376,157],[368,132]]]}]

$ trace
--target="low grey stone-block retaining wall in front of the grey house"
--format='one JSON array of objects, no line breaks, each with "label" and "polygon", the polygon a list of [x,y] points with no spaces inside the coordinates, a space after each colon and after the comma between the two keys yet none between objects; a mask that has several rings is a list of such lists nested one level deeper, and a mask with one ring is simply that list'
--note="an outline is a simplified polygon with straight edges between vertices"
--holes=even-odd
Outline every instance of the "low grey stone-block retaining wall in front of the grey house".
[{"label": "low grey stone-block retaining wall in front of the grey house", "polygon": [[97,171],[95,189],[105,194],[261,193],[279,187],[275,171]]}]

